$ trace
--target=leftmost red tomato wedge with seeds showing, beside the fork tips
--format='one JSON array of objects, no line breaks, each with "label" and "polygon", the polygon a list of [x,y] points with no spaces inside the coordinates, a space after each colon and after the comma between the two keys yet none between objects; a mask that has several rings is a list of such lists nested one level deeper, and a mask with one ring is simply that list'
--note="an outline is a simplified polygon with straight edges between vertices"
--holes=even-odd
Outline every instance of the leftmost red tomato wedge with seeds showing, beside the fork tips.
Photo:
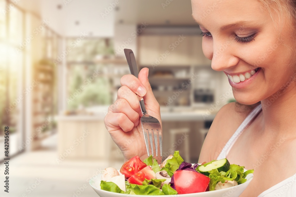
[{"label": "leftmost red tomato wedge with seeds showing, beside the fork tips", "polygon": [[120,173],[129,178],[146,166],[147,165],[141,161],[139,156],[134,156],[122,165]]}]

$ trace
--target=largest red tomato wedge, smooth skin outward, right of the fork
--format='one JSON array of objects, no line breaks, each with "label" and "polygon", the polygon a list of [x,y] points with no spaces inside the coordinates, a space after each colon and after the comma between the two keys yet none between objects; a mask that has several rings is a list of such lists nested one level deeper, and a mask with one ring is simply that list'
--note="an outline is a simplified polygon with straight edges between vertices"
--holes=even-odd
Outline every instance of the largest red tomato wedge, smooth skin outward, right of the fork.
[{"label": "largest red tomato wedge, smooth skin outward, right of the fork", "polygon": [[177,170],[174,173],[174,183],[178,194],[198,193],[206,191],[210,178],[199,172]]}]

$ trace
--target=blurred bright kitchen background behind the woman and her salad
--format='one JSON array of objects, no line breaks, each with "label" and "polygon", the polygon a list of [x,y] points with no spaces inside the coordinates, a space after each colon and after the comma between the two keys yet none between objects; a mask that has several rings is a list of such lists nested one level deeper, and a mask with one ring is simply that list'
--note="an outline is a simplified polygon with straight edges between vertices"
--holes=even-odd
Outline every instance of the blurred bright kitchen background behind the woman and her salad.
[{"label": "blurred bright kitchen background behind the woman and her salad", "polygon": [[6,126],[11,158],[0,196],[97,196],[90,177],[123,164],[104,116],[129,74],[124,48],[149,68],[163,159],[179,150],[197,162],[215,114],[234,101],[202,53],[190,0],[0,0],[0,11],[1,181]]}]

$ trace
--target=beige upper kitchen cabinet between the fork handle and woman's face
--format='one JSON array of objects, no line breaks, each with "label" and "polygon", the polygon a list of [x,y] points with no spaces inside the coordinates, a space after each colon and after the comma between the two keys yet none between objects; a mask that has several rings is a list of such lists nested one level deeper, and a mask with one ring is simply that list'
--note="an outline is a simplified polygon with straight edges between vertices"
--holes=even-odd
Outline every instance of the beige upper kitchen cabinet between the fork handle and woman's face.
[{"label": "beige upper kitchen cabinet between the fork handle and woman's face", "polygon": [[198,35],[141,35],[140,65],[210,65],[202,53],[202,37]]}]

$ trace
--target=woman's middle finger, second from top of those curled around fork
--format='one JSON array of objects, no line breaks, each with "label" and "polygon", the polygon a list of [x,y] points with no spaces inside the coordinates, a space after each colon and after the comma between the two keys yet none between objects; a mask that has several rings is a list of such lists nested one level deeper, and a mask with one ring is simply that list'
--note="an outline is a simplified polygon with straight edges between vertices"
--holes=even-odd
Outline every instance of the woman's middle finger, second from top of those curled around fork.
[{"label": "woman's middle finger, second from top of those curled around fork", "polygon": [[141,109],[140,109],[140,104],[139,104],[139,98],[136,95],[136,93],[134,93],[133,91],[131,91],[130,88],[128,88],[126,85],[121,86],[118,89],[117,92],[117,99],[126,99],[129,103],[129,105],[139,114],[141,114]]}]

